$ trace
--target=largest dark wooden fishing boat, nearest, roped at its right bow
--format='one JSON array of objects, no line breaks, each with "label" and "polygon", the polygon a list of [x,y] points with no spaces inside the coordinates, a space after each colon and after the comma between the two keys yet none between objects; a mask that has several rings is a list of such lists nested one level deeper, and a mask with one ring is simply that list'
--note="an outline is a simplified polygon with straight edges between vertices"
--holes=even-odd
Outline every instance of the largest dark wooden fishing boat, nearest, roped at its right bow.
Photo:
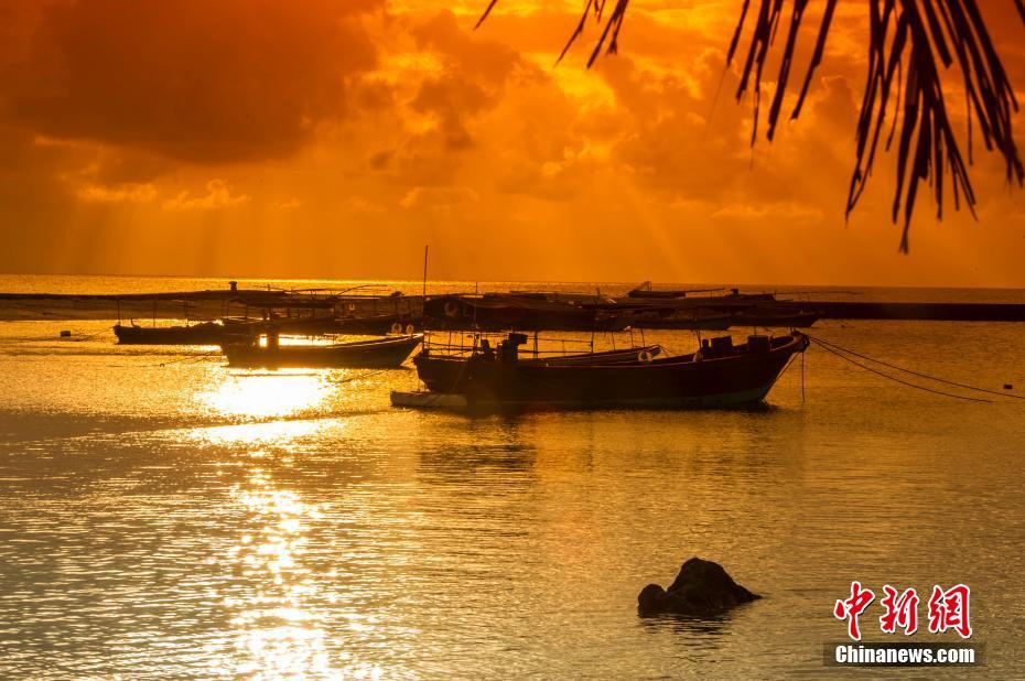
[{"label": "largest dark wooden fishing boat, nearest, roped at its right bow", "polygon": [[457,394],[468,407],[560,409],[595,407],[702,408],[760,402],[808,337],[749,336],[734,346],[729,336],[705,339],[697,353],[636,356],[614,363],[521,360],[522,334],[509,334],[494,356],[432,354],[413,358],[431,392]]}]

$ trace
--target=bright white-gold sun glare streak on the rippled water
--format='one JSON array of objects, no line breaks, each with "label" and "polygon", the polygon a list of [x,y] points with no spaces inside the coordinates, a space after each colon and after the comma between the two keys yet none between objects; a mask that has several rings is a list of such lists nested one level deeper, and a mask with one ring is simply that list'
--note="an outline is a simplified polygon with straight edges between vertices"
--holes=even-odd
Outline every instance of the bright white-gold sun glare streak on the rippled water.
[{"label": "bright white-gold sun glare streak on the rippled water", "polygon": [[321,509],[261,467],[268,457],[290,463],[296,441],[322,429],[322,419],[294,417],[314,412],[331,391],[323,372],[223,372],[211,389],[197,394],[201,404],[219,415],[255,421],[190,433],[206,443],[248,448],[241,464],[249,466],[247,477],[229,493],[247,522],[225,556],[233,582],[248,587],[239,591],[234,585],[223,602],[231,614],[234,649],[215,664],[219,674],[253,679],[377,675],[373,669],[333,668],[323,612],[314,602],[334,603],[335,597],[322,593],[317,577],[324,575],[303,563],[308,531],[322,519]]}]

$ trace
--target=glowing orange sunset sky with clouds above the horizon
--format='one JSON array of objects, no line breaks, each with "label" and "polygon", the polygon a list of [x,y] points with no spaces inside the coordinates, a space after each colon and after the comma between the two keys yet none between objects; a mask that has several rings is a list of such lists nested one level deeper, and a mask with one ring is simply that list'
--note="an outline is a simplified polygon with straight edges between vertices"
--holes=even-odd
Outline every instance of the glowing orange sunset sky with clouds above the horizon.
[{"label": "glowing orange sunset sky with clouds above the horizon", "polygon": [[[429,242],[438,279],[1025,287],[995,156],[909,256],[892,155],[844,221],[864,2],[752,149],[741,4],[635,0],[587,71],[594,26],[554,65],[580,1],[0,0],[0,272],[416,279]],[[1025,26],[982,4],[1025,102]]]}]

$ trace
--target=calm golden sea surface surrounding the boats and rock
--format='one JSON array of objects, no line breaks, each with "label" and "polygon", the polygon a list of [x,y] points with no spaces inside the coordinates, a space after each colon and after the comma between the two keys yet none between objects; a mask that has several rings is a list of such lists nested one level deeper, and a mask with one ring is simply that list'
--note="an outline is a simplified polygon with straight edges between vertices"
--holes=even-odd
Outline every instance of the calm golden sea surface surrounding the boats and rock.
[{"label": "calm golden sea surface surrounding the boats and rock", "polygon": [[[0,291],[222,285],[0,277]],[[528,285],[553,288],[482,289]],[[241,371],[209,348],[118,347],[110,325],[0,323],[0,678],[837,675],[822,644],[845,635],[832,606],[852,580],[924,601],[970,585],[988,662],[970,671],[1025,675],[1025,402],[911,390],[812,347],[763,410],[465,418],[392,409],[409,368]],[[811,333],[1025,392],[1025,325]],[[766,598],[638,618],[639,590],[693,555]]]}]

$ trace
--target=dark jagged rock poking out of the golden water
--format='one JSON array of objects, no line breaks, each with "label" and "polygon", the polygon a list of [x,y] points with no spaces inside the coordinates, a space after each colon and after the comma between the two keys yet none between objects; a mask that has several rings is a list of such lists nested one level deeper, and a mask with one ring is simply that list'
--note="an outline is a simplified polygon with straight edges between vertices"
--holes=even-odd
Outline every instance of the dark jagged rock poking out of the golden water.
[{"label": "dark jagged rock poking out of the golden water", "polygon": [[667,613],[708,616],[760,597],[734,582],[719,563],[692,558],[668,590],[658,584],[640,590],[637,613],[641,617]]}]

